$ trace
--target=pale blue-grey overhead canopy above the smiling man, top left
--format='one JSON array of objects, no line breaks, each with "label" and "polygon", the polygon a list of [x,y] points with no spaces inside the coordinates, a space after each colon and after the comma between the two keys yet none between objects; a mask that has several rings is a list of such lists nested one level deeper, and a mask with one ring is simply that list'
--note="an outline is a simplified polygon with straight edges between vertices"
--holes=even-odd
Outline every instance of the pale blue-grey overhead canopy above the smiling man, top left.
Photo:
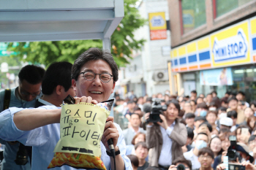
[{"label": "pale blue-grey overhead canopy above the smiling man, top left", "polygon": [[124,18],[123,0],[2,0],[1,4],[0,42],[103,39],[110,47],[110,36]]}]

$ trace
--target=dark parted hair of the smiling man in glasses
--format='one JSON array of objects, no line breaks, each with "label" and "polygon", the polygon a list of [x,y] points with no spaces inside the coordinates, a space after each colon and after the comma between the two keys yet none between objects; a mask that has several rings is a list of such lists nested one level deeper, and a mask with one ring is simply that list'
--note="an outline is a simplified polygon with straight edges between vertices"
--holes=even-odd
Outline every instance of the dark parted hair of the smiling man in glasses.
[{"label": "dark parted hair of the smiling man in glasses", "polygon": [[90,48],[75,60],[72,66],[72,79],[78,80],[80,69],[85,63],[97,60],[102,60],[109,64],[113,74],[113,81],[116,82],[118,80],[118,66],[116,65],[110,51],[100,50],[99,48]]}]

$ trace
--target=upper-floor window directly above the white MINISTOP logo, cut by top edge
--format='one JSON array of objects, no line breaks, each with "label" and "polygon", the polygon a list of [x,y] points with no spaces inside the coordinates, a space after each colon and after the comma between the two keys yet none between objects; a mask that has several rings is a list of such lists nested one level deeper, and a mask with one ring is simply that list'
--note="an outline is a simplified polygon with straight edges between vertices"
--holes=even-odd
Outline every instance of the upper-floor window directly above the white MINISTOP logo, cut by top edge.
[{"label": "upper-floor window directly above the white MINISTOP logo, cut by top edge", "polygon": [[224,15],[227,12],[232,11],[238,7],[243,6],[253,0],[214,0],[214,6],[216,7],[214,11],[214,18]]}]

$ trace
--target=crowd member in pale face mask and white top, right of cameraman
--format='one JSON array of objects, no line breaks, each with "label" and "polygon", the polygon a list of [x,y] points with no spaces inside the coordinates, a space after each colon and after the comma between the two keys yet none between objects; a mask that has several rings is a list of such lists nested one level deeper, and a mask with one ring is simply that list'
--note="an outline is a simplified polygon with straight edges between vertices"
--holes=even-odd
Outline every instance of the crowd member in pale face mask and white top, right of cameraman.
[{"label": "crowd member in pale face mask and white top, right of cameraman", "polygon": [[208,135],[205,133],[197,134],[195,139],[195,148],[190,150],[189,152],[184,152],[184,157],[191,161],[192,169],[200,169],[200,162],[198,161],[198,152],[203,147],[207,147],[208,145]]}]

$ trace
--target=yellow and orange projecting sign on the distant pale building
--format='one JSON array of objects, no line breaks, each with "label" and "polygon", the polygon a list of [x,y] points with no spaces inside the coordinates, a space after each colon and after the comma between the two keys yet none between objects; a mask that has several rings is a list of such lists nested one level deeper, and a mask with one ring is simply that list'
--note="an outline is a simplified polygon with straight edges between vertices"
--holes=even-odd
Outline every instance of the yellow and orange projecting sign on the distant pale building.
[{"label": "yellow and orange projecting sign on the distant pale building", "polygon": [[150,39],[167,39],[165,12],[148,13]]}]

